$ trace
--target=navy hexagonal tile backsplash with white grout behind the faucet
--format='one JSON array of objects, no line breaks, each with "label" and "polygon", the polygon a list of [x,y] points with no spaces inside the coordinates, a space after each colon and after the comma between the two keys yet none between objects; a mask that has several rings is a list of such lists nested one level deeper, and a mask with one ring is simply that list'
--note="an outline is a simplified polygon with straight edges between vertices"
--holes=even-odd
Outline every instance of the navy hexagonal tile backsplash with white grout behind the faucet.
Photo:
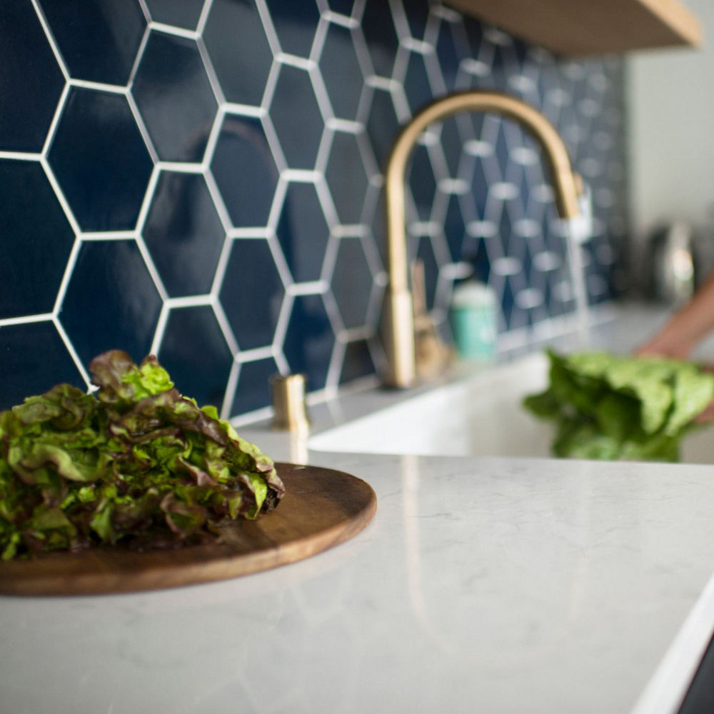
[{"label": "navy hexagonal tile backsplash with white grout behind the faucet", "polygon": [[[324,396],[375,373],[381,167],[400,124],[458,89],[510,92],[559,129],[593,191],[590,301],[618,291],[618,59],[558,59],[430,0],[14,0],[0,38],[0,408],[89,386],[114,347],[157,353],[226,417],[267,406],[276,371]],[[445,330],[471,269],[515,342],[573,312],[553,192],[516,124],[431,127],[408,189]]]}]

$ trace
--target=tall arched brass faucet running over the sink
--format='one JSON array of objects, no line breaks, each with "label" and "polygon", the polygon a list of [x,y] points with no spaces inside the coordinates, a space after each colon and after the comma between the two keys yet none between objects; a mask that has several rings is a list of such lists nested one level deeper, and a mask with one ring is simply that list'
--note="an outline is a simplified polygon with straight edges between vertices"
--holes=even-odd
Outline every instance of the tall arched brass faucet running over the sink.
[{"label": "tall arched brass faucet running over the sink", "polygon": [[555,201],[561,218],[580,213],[578,196],[583,183],[570,168],[563,139],[543,114],[508,94],[494,91],[465,91],[448,94],[418,112],[398,135],[388,159],[385,191],[387,219],[388,284],[383,314],[383,338],[387,369],[384,383],[409,387],[417,380],[414,340],[413,298],[409,289],[406,245],[405,188],[406,166],[411,151],[424,129],[462,111],[483,111],[515,119],[538,139],[555,188]]}]

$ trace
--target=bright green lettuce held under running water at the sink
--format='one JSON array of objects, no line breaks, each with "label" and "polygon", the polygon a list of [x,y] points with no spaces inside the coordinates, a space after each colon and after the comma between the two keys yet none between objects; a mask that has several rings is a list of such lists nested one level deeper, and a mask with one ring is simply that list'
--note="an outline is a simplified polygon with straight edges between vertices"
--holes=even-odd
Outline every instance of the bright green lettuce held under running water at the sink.
[{"label": "bright green lettuce held under running water at the sink", "polygon": [[523,406],[555,423],[555,456],[678,461],[680,441],[714,398],[693,363],[604,352],[548,352],[550,384]]}]

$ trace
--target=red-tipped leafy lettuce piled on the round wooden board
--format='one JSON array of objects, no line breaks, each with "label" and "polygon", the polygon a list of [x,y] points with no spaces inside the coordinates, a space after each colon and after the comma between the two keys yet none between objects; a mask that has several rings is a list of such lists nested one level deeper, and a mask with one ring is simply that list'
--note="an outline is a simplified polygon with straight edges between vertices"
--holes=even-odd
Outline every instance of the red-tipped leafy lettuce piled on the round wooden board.
[{"label": "red-tipped leafy lettuce piled on the round wooden board", "polygon": [[181,396],[154,356],[109,351],[89,370],[93,394],[59,384],[0,413],[2,558],[199,543],[277,506],[271,459]]}]

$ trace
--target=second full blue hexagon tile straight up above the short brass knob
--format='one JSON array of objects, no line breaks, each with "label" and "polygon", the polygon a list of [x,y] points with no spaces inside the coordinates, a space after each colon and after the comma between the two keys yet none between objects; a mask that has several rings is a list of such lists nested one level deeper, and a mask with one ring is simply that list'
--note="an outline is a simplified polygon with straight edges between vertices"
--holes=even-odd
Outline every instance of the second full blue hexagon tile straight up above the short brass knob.
[{"label": "second full blue hexagon tile straight up above the short brass knob", "polygon": [[330,227],[313,183],[288,184],[276,232],[293,280],[318,280]]}]

